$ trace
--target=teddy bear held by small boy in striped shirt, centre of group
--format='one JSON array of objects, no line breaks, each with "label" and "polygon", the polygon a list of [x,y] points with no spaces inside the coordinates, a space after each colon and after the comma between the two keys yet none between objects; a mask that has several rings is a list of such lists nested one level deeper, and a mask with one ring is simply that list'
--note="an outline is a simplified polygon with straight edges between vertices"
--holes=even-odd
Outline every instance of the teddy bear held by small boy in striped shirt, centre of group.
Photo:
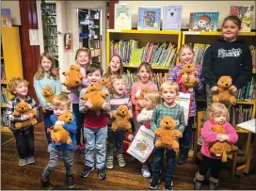
[{"label": "teddy bear held by small boy in striped shirt, centre of group", "polygon": [[112,122],[112,130],[114,132],[117,130],[128,130],[132,132],[132,125],[129,119],[132,119],[133,115],[129,113],[126,105],[120,105],[117,109],[117,113],[111,113],[110,117],[114,119]]}]

